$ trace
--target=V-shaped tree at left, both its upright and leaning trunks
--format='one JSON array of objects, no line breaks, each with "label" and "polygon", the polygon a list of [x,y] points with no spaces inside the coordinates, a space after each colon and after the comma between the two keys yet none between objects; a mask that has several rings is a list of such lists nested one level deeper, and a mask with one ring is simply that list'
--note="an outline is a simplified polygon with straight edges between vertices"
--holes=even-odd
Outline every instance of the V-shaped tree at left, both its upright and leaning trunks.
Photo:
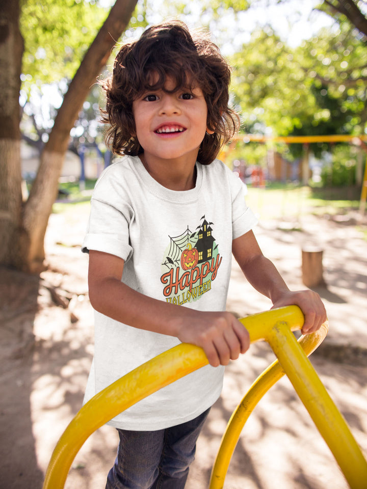
[{"label": "V-shaped tree at left, both its upright and leaning trunks", "polygon": [[[0,263],[13,265],[19,269],[38,272],[43,267],[44,248],[43,241],[47,227],[49,214],[58,191],[58,179],[63,165],[65,151],[69,144],[70,130],[78,113],[87,97],[91,86],[96,82],[97,76],[106,65],[116,40],[132,16],[137,0],[116,0],[106,21],[104,21],[94,41],[88,48],[82,63],[73,76],[68,90],[65,93],[63,103],[59,108],[55,123],[50,131],[40,160],[40,166],[36,179],[31,187],[27,202],[21,206],[20,187],[20,158],[19,158],[19,91],[16,95],[14,88],[9,94],[12,96],[12,114],[9,113],[9,101],[0,103],[0,120],[8,117],[12,129],[8,132],[1,131],[0,150],[3,150],[3,175],[0,178],[2,187],[0,209]],[[5,4],[7,4],[5,6]],[[5,42],[0,44],[0,59],[4,59],[6,68],[2,73],[3,83],[19,89],[21,38],[19,35],[19,5],[13,0],[12,15],[4,17],[6,29],[9,33]],[[8,2],[2,0],[0,13],[3,15],[9,11]],[[3,32],[3,30],[2,30]],[[17,54],[17,57],[14,54]],[[13,58],[11,58],[13,57]],[[4,67],[4,65],[3,65]],[[16,72],[16,67],[18,71]],[[16,82],[14,82],[16,80]],[[15,102],[16,100],[16,102]],[[17,110],[14,110],[17,107]],[[15,129],[15,127],[17,129]],[[5,137],[3,136],[5,135]],[[10,143],[9,143],[10,141]],[[6,154],[4,154],[6,153]],[[10,175],[11,174],[11,175]],[[10,175],[10,176],[9,176]],[[9,202],[16,200],[10,209]]]}]

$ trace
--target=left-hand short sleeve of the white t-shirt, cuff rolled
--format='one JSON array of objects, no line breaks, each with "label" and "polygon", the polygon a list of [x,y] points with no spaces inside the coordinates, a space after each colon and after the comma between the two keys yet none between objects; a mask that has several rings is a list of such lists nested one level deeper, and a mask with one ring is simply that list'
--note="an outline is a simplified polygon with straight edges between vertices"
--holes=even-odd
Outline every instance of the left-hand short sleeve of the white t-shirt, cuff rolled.
[{"label": "left-hand short sleeve of the white t-shirt, cuff rolled", "polygon": [[108,174],[98,180],[91,200],[91,211],[82,251],[101,251],[127,261],[133,249],[129,244],[129,224],[134,211],[123,189]]}]

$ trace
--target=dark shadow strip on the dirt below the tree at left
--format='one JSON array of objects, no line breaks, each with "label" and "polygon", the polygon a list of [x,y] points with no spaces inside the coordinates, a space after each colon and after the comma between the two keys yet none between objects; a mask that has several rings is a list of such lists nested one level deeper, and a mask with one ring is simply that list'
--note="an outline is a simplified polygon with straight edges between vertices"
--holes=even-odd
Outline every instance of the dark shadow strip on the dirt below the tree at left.
[{"label": "dark shadow strip on the dirt below the tree at left", "polygon": [[0,269],[2,367],[0,382],[0,459],[2,486],[42,487],[31,416],[33,322],[38,310],[39,278]]}]

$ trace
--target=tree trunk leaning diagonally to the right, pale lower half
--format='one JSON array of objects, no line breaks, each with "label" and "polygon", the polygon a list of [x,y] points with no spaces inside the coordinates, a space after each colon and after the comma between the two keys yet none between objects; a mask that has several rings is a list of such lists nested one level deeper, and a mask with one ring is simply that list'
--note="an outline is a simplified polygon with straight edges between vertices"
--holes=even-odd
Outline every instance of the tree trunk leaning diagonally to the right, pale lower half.
[{"label": "tree trunk leaning diagonally to the right, pale lower half", "polygon": [[[96,83],[96,78],[106,65],[116,40],[126,29],[136,3],[137,0],[116,0],[65,94],[54,127],[41,154],[37,176],[24,207],[25,234],[21,238],[20,248],[28,247],[28,253],[21,266],[23,270],[38,273],[43,267],[44,235],[57,196],[58,180],[69,143],[70,130],[92,85]],[[22,260],[22,257],[19,258],[18,262]]]}]

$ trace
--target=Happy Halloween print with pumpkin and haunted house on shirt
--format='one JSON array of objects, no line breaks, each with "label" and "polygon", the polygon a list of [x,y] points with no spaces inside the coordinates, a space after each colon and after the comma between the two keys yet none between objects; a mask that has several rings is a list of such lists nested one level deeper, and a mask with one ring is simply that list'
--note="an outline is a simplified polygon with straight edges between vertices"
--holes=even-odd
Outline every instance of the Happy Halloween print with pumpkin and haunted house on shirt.
[{"label": "Happy Halloween print with pumpkin and haunted house on shirt", "polygon": [[213,223],[200,218],[192,232],[189,226],[178,236],[169,236],[161,265],[163,295],[167,302],[182,305],[197,301],[212,288],[222,257],[212,234]]}]

